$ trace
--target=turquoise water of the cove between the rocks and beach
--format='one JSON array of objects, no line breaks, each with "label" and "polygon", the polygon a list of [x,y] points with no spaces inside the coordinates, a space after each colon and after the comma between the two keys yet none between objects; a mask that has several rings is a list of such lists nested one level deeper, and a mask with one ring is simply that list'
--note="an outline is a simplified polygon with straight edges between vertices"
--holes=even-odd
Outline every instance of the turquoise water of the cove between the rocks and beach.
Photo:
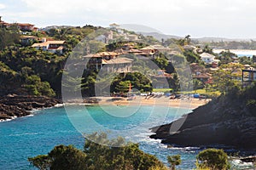
[{"label": "turquoise water of the cove between the rocks and beach", "polygon": [[66,111],[64,107],[36,111],[34,116],[0,122],[0,169],[34,169],[27,157],[47,154],[56,144],[73,144],[82,149],[84,137],[81,133],[96,131],[108,131],[109,136],[123,136],[139,142],[142,150],[158,156],[165,163],[166,156],[181,154],[183,163],[180,168],[191,169],[195,167],[198,150],[171,149],[159,140],[148,138],[151,134],[149,127],[171,122],[187,112],[189,110],[161,106],[101,108],[96,105],[71,105],[66,106]]}]

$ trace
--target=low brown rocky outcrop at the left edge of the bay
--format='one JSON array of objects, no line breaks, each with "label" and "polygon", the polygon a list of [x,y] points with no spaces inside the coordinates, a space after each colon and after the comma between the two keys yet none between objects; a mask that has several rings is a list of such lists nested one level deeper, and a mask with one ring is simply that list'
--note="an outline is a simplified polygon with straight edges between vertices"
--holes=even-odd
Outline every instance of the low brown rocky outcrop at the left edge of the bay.
[{"label": "low brown rocky outcrop at the left edge of the bay", "polygon": [[32,109],[52,107],[61,103],[59,99],[44,96],[4,96],[0,97],[0,120],[28,116]]}]

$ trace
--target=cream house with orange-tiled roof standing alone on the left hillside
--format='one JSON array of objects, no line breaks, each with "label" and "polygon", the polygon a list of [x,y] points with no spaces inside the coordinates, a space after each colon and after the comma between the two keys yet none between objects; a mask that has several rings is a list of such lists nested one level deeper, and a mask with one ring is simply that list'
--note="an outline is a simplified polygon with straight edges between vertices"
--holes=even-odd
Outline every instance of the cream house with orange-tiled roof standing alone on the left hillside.
[{"label": "cream house with orange-tiled roof standing alone on the left hillside", "polygon": [[42,49],[50,53],[63,53],[65,41],[46,41],[41,43],[34,43],[32,48]]}]

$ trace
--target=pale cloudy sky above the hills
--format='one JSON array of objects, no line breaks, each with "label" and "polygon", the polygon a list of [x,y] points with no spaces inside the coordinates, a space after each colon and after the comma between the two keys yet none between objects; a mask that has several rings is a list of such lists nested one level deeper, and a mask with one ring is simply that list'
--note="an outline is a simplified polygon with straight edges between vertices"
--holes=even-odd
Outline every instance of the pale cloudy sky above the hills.
[{"label": "pale cloudy sky above the hills", "polygon": [[255,8],[255,0],[0,0],[6,22],[136,24],[181,37],[256,38]]}]

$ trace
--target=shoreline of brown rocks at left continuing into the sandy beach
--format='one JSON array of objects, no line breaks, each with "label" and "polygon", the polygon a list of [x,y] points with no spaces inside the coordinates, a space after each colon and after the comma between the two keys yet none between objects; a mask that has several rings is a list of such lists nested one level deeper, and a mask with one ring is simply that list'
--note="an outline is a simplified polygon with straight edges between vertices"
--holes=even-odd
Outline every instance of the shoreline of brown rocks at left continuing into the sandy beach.
[{"label": "shoreline of brown rocks at left continuing into the sandy beach", "polygon": [[210,100],[211,99],[169,99],[165,96],[152,97],[149,99],[146,99],[144,96],[136,96],[136,99],[132,100],[121,97],[90,97],[87,99],[71,99],[63,104],[60,99],[44,96],[5,96],[0,98],[0,122],[9,122],[19,117],[33,116],[32,113],[35,111],[65,105],[160,105],[194,110],[201,105],[206,105]]}]

